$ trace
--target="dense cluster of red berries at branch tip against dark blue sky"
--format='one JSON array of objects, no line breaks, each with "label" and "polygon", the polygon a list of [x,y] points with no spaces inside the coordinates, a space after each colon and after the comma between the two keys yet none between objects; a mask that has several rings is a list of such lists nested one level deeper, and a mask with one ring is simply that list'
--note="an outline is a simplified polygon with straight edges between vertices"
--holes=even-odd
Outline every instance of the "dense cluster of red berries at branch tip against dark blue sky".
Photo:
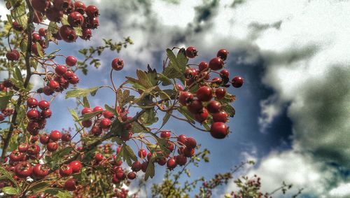
[{"label": "dense cluster of red berries at branch tip against dark blue sky", "polygon": [[[197,50],[194,47],[186,49],[186,55],[189,58],[197,56]],[[188,111],[193,113],[197,122],[205,122],[209,119],[209,113],[214,121],[211,125],[210,134],[216,139],[223,139],[228,135],[229,130],[225,122],[228,121],[228,113],[226,113],[220,100],[225,97],[227,83],[229,83],[230,72],[223,69],[224,61],[228,57],[228,51],[221,49],[216,57],[211,59],[209,64],[201,62],[198,64],[198,69],[188,66],[185,72],[187,85],[193,85],[196,80],[200,83],[200,88],[195,94],[183,91],[181,85],[177,85],[179,90],[179,102],[183,106],[187,106]],[[209,72],[209,69],[211,70]],[[221,70],[222,69],[222,70]],[[220,72],[217,72],[221,70]],[[210,79],[210,73],[218,73],[220,77]],[[243,78],[235,76],[232,81],[233,87],[241,87]],[[214,100],[211,100],[215,98]]]}]

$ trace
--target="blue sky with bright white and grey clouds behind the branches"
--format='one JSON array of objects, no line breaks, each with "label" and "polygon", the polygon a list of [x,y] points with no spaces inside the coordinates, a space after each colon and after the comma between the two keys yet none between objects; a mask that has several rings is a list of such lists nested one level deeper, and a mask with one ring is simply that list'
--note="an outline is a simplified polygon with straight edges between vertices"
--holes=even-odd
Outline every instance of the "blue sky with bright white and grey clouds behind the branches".
[{"label": "blue sky with bright white and grey clouds behind the branches", "polygon": [[[80,57],[80,48],[101,45],[102,38],[121,41],[130,36],[134,45],[120,54],[104,53],[101,68],[80,74],[83,87],[109,83],[115,57],[125,61],[116,76],[120,83],[147,64],[160,69],[166,48],[195,46],[199,56],[191,60],[194,64],[209,61],[221,48],[230,52],[226,69],[245,80],[240,89],[230,88],[237,96],[236,115],[228,124],[232,134],[216,140],[174,120],[165,126],[211,150],[211,162],[191,167],[191,178],[211,178],[253,159],[255,166],[243,173],[258,174],[266,192],[286,181],[294,185],[289,196],[304,188],[300,197],[350,197],[349,1],[88,2],[100,10],[100,27],[90,42],[59,46],[63,54]],[[108,94],[99,91],[90,102],[113,104]],[[74,102],[63,96],[55,100],[50,120],[57,122],[48,127],[73,125],[66,107]],[[164,171],[158,168],[153,181],[160,182]],[[216,196],[235,189],[230,183]]]}]

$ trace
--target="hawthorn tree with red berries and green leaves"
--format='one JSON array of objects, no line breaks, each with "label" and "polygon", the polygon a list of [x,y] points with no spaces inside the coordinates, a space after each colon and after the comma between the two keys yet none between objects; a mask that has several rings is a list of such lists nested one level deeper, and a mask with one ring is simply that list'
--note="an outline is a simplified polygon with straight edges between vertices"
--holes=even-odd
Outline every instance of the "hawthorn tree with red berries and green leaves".
[{"label": "hawthorn tree with red berries and green leaves", "polygon": [[[244,80],[230,80],[224,69],[227,50],[218,50],[209,63],[190,64],[196,48],[167,49],[162,71],[148,65],[120,85],[113,74],[127,63],[111,59],[111,72],[106,74],[111,85],[83,89],[76,73],[86,75],[89,66],[99,67],[97,57],[105,49],[119,52],[132,40],[105,39],[102,46],[80,50],[79,61],[60,54],[59,45],[90,40],[99,27],[96,6],[71,0],[6,0],[6,7],[10,15],[1,21],[0,32],[0,55],[6,57],[0,60],[0,70],[7,75],[0,83],[0,197],[127,197],[123,185],[140,171],[144,178],[138,179],[146,181],[155,176],[155,166],[171,171],[199,156],[207,161],[208,151],[197,150],[195,138],[163,129],[170,119],[187,122],[214,139],[228,136],[226,122],[235,115],[231,87],[241,87]],[[49,45],[57,50],[48,50]],[[32,76],[42,80],[37,90]],[[115,102],[90,106],[88,97],[99,89],[109,89]],[[45,129],[59,94],[76,98],[80,112],[68,109],[73,128]],[[203,183],[200,192],[205,196],[198,196],[208,197],[209,189],[228,178],[232,176],[213,185]],[[153,192],[162,185],[154,185]],[[177,178],[164,196],[182,196],[174,190],[176,185]]]}]

